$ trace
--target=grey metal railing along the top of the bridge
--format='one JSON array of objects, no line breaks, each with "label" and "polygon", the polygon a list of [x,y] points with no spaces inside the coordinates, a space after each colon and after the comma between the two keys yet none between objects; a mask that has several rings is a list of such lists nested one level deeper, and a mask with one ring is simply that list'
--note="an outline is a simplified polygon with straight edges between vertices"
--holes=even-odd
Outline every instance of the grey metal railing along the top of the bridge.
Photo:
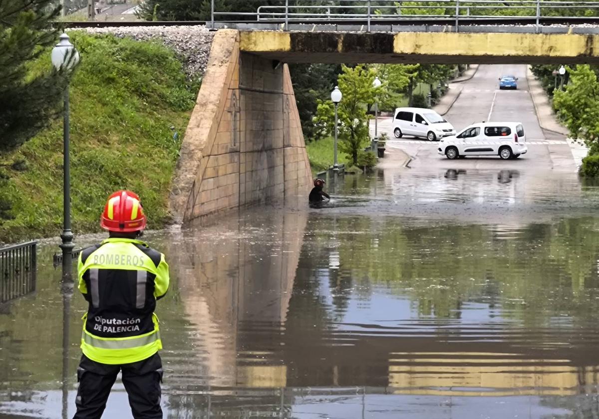
[{"label": "grey metal railing along the top of the bridge", "polygon": [[[254,8],[255,7],[255,8]],[[288,31],[290,25],[347,24],[363,25],[371,31],[375,25],[413,24],[426,20],[430,24],[459,25],[485,23],[534,24],[579,22],[599,16],[599,2],[564,0],[256,0],[246,10],[215,8],[212,0],[211,25],[214,23],[276,23]]]}]

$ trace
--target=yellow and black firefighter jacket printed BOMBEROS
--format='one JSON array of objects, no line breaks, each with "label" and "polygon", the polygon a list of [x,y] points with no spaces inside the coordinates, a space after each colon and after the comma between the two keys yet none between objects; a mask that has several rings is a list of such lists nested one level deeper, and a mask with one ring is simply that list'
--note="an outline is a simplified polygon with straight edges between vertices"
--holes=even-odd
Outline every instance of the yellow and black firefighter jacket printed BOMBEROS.
[{"label": "yellow and black firefighter jacket printed BOMBEROS", "polygon": [[81,350],[105,364],[144,360],[162,349],[156,300],[168,290],[164,254],[142,241],[109,238],[81,251],[78,288],[89,302]]}]

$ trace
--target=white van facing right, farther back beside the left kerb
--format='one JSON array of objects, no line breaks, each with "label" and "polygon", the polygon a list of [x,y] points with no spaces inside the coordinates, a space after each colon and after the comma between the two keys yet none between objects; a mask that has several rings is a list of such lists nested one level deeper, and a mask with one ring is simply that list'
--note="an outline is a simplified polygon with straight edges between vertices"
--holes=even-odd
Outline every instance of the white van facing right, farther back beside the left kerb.
[{"label": "white van facing right, farther back beside the left kerb", "polygon": [[455,135],[455,128],[432,109],[397,108],[393,119],[395,138],[413,135],[429,141]]}]

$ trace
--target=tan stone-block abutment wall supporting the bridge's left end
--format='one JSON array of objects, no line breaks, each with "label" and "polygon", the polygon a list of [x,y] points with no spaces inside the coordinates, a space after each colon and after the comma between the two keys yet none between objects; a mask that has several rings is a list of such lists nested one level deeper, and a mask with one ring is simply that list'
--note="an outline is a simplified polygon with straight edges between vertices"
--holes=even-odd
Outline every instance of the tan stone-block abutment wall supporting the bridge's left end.
[{"label": "tan stone-block abutment wall supporting the bridge's left end", "polygon": [[308,193],[310,165],[289,69],[218,31],[171,193],[174,222]]}]

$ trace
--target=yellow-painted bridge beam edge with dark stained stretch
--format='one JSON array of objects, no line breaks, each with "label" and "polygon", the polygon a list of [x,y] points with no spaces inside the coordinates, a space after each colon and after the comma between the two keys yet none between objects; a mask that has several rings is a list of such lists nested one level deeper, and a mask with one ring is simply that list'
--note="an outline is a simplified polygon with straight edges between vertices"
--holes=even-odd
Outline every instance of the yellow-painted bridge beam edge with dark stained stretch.
[{"label": "yellow-painted bridge beam edge with dark stained stretch", "polygon": [[242,51],[470,57],[599,57],[599,35],[241,31]]}]

